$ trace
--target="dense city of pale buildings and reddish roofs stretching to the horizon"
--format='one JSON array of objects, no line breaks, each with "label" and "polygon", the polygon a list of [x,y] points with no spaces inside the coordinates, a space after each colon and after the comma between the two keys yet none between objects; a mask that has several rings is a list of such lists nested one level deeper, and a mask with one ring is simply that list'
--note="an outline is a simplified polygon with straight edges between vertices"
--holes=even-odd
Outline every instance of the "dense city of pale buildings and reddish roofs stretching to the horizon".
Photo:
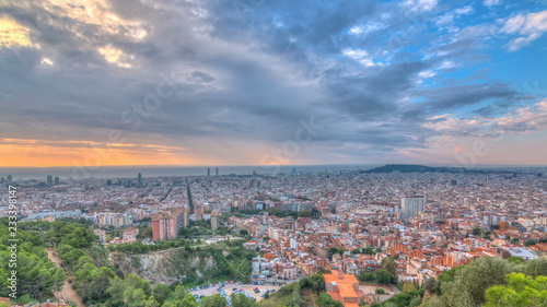
[{"label": "dense city of pale buildings and reddish roofs stretching to the horizon", "polygon": [[[264,297],[259,287],[275,291],[331,271],[339,273],[325,280],[350,285],[341,294],[341,287],[327,284],[335,300],[345,306],[372,304],[400,293],[389,284],[421,287],[477,258],[528,261],[547,255],[547,177],[540,169],[391,167],[388,173],[380,172],[385,170],[382,167],[375,168],[379,173],[315,174],[294,168],[272,176],[219,176],[208,169],[206,176],[191,177],[147,178],[139,173],[119,179],[47,176],[14,181],[8,176],[0,181],[3,189],[18,187],[20,223],[84,219],[96,244],[114,253],[142,253],[130,246],[155,246],[181,237],[199,239],[202,246],[241,239],[244,249],[256,251],[246,284],[255,294],[247,295],[258,300]],[[2,206],[0,214],[9,216],[9,211]],[[199,232],[199,225],[207,232]],[[198,231],[188,236],[188,228]],[[385,259],[394,259],[394,271],[382,280],[373,272],[382,270]],[[147,265],[143,271],[158,271],[154,264]],[[141,272],[141,276],[152,283],[184,284],[175,271]],[[385,295],[375,293],[377,284],[385,285]],[[191,291],[198,299],[221,293],[208,288]]]}]

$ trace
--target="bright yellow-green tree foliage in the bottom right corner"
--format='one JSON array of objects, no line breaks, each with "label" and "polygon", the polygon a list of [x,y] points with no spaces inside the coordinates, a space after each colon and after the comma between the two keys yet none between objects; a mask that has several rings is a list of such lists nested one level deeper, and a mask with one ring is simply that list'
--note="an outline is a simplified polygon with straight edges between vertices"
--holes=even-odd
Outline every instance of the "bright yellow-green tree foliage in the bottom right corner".
[{"label": "bright yellow-green tree foliage in the bottom right corner", "polygon": [[507,275],[508,285],[489,287],[486,307],[547,306],[547,276],[526,276],[523,273]]}]

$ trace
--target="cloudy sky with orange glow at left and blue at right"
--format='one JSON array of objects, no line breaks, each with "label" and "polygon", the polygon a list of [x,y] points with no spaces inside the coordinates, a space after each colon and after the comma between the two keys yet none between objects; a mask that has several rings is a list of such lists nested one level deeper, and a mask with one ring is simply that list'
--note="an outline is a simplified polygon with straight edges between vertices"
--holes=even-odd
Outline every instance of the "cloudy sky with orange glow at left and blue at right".
[{"label": "cloudy sky with orange glow at left and blue at right", "polygon": [[546,0],[3,0],[0,166],[547,165],[546,32]]}]

